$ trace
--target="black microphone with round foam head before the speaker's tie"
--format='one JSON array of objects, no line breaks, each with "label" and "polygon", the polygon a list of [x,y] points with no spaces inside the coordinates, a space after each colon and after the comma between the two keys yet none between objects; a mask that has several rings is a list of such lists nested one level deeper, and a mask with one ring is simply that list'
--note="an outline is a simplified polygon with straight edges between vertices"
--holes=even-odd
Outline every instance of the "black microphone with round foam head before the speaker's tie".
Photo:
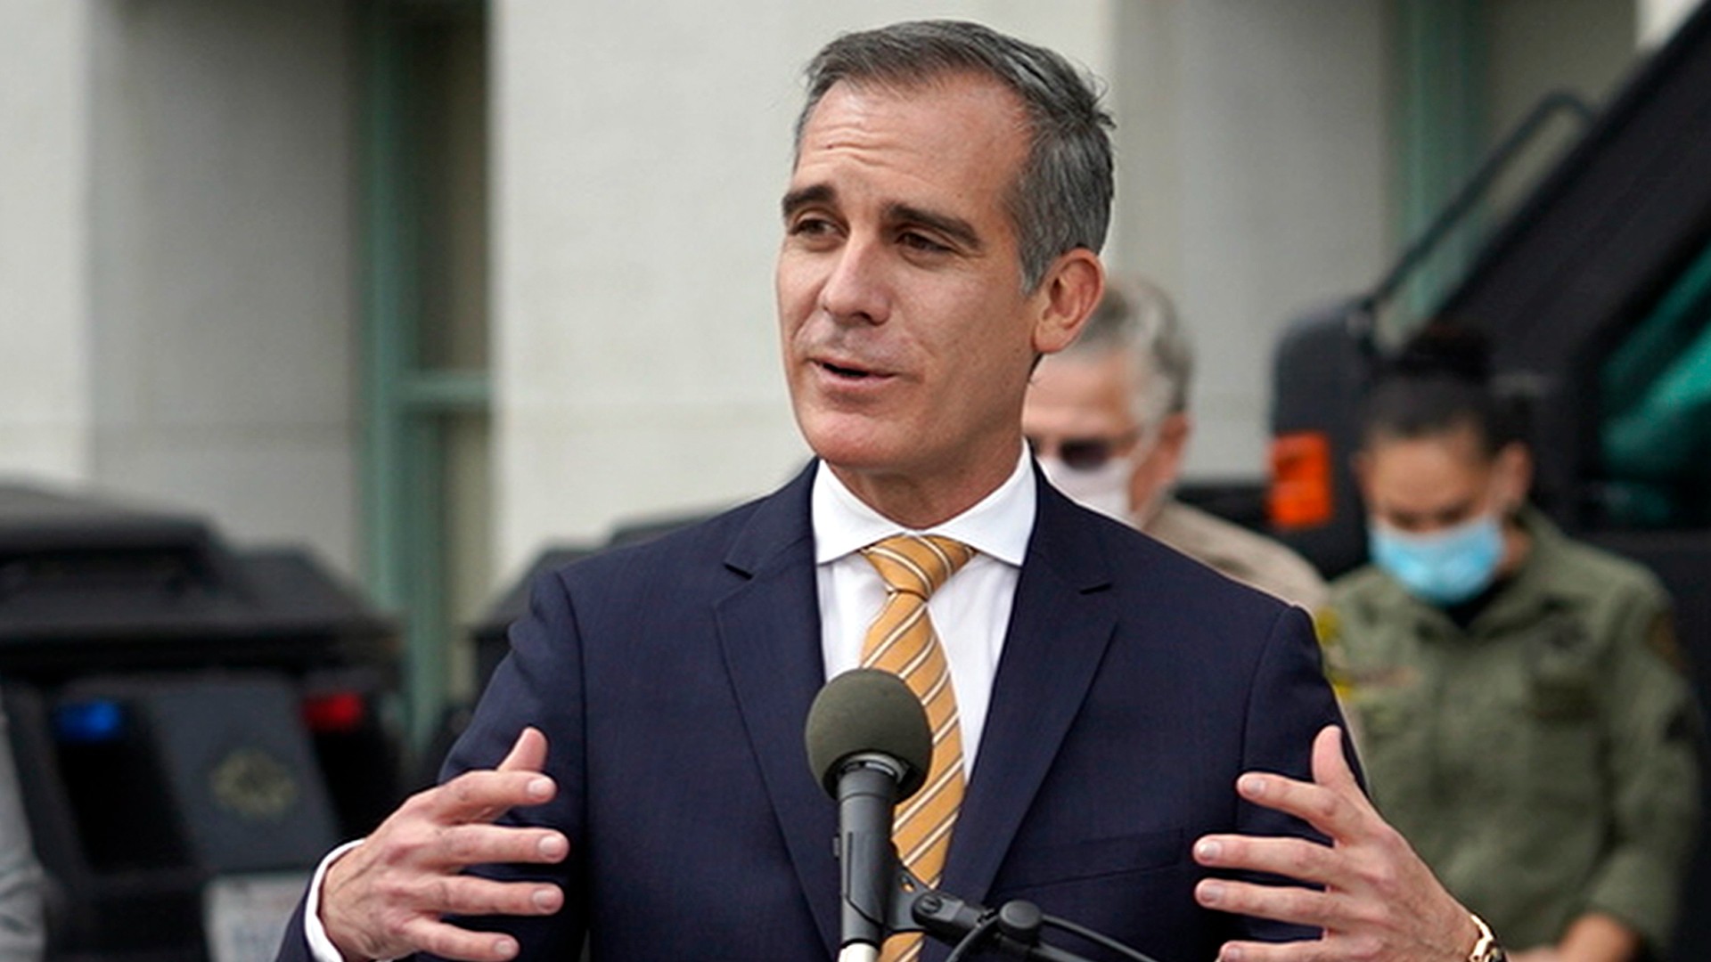
[{"label": "black microphone with round foam head before the speaker's tie", "polygon": [[845,671],[814,697],[808,763],[838,799],[842,919],[838,959],[878,959],[898,890],[891,810],[921,791],[932,729],[921,698],[890,671]]}]

